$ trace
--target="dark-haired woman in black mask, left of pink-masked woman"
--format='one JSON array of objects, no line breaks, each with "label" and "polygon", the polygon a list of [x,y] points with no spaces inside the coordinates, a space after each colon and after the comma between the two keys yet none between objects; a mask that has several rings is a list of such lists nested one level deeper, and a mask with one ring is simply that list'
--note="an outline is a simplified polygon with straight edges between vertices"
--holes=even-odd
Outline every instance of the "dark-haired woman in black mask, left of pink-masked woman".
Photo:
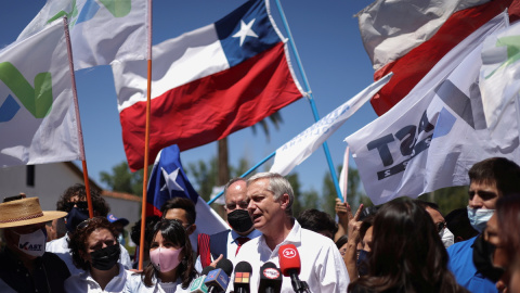
[{"label": "dark-haired woman in black mask, left of pink-masked woman", "polygon": [[67,292],[121,292],[127,271],[114,226],[104,217],[88,219],[70,234],[74,265],[84,270],[65,281]]}]

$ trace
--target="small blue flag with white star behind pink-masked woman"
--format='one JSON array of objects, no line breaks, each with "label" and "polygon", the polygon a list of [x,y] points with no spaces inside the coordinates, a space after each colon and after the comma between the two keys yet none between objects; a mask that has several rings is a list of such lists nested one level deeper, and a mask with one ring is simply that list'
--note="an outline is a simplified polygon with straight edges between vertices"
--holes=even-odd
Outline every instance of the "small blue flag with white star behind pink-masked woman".
[{"label": "small blue flag with white star behind pink-masked woman", "polygon": [[197,234],[212,234],[229,229],[227,224],[200,199],[192,187],[181,164],[179,146],[162,149],[152,169],[146,191],[146,216],[160,214],[160,207],[170,199],[190,199],[195,204],[197,229],[190,237],[196,251]]}]

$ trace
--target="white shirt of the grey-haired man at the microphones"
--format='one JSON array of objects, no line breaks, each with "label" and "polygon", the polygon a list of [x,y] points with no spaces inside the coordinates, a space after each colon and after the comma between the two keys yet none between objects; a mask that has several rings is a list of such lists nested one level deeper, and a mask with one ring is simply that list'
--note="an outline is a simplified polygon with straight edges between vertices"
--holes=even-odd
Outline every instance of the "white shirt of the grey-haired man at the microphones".
[{"label": "white shirt of the grey-haired man at the microphones", "polygon": [[[251,293],[258,292],[260,267],[263,264],[271,262],[280,268],[278,249],[285,244],[295,244],[297,247],[301,259],[299,279],[309,284],[312,293],[347,292],[347,286],[350,283],[349,273],[334,242],[322,234],[301,228],[295,219],[295,226],[289,234],[282,243],[276,245],[274,251],[269,249],[262,234],[244,244],[236,255],[235,266],[244,260],[252,267]],[[233,280],[233,277],[231,280]],[[230,284],[227,292],[231,292],[232,288],[233,285]],[[281,292],[294,292],[289,277],[283,278]]]}]

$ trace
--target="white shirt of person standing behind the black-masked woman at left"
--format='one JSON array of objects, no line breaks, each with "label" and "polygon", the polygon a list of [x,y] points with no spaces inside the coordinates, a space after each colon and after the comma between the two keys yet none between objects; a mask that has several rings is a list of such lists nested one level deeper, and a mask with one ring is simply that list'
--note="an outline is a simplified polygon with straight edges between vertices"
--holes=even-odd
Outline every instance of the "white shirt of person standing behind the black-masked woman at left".
[{"label": "white shirt of person standing behind the black-masked woman at left", "polygon": [[[119,247],[121,249],[121,254],[119,255],[118,263],[121,264],[125,269],[131,269],[132,260],[130,260],[130,255],[128,254],[127,249],[121,244],[119,244]],[[67,265],[70,276],[84,272],[84,270],[77,268],[73,263],[73,253],[70,253],[70,249],[68,249],[68,233],[62,238],[47,242],[46,252],[51,252],[60,256],[60,258],[65,262],[65,265]]]}]

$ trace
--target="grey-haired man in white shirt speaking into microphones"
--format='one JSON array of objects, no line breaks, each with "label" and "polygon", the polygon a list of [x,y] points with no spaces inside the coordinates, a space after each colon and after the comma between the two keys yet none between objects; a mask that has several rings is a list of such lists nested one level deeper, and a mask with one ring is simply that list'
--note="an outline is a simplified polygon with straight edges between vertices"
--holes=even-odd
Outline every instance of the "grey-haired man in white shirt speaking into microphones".
[{"label": "grey-haired man in white shirt speaking into microphones", "polygon": [[[251,265],[251,292],[258,292],[264,263],[280,267],[278,249],[285,244],[297,247],[301,259],[299,279],[307,282],[310,292],[347,292],[350,278],[334,242],[301,228],[292,217],[295,196],[287,179],[280,174],[257,174],[247,180],[247,198],[253,227],[262,235],[244,244],[234,264],[244,260]],[[290,278],[283,278],[282,292],[294,292]]]}]

